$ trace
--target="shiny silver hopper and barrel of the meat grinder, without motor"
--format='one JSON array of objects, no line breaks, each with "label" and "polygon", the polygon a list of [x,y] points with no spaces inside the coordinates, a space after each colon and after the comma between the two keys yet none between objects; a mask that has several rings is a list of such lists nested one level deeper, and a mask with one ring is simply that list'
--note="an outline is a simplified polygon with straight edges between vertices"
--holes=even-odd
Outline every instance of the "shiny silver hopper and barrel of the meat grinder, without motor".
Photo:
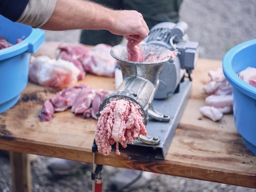
[{"label": "shiny silver hopper and barrel of the meat grinder, without motor", "polygon": [[141,49],[145,62],[128,61],[126,45],[112,47],[110,54],[117,60],[121,68],[123,82],[114,93],[104,98],[99,111],[112,100],[125,99],[133,101],[141,107],[145,125],[148,123],[148,116],[156,121],[168,122],[170,117],[156,112],[153,109],[152,101],[159,85],[162,66],[171,58],[171,56],[167,56],[171,51],[165,47],[150,44],[142,44]]}]

